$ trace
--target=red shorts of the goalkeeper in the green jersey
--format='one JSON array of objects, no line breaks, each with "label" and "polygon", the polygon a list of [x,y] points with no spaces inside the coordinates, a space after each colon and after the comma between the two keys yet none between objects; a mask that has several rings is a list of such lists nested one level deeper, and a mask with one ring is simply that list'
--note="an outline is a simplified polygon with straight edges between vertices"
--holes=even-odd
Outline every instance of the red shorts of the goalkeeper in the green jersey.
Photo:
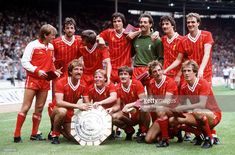
[{"label": "red shorts of the goalkeeper in the green jersey", "polygon": [[137,79],[137,80],[140,80],[141,83],[144,85],[144,86],[148,86],[149,83],[150,83],[150,80],[151,80],[151,77],[148,75],[148,76],[144,76],[142,78],[142,75],[144,75],[146,72],[148,72],[148,67],[147,66],[143,66],[143,67],[134,67],[134,70],[133,70],[133,78]]}]

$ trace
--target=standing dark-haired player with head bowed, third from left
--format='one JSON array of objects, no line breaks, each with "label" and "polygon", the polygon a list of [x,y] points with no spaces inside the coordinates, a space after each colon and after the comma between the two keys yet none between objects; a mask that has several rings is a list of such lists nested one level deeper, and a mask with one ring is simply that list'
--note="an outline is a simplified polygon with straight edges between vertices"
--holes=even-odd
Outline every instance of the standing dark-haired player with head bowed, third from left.
[{"label": "standing dark-haired player with head bowed, third from left", "polygon": [[105,45],[98,44],[96,33],[93,30],[82,32],[82,46],[79,47],[80,55],[84,61],[84,74],[82,79],[89,86],[93,83],[93,75],[97,69],[105,69],[107,73],[107,83],[110,83],[111,63],[109,50]]}]

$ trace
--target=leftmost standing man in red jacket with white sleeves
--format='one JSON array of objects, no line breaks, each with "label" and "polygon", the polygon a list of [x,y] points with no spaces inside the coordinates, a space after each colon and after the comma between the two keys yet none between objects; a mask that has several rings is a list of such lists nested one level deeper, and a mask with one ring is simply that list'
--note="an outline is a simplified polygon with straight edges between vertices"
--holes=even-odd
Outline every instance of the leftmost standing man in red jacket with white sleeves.
[{"label": "leftmost standing man in red jacket with white sleeves", "polygon": [[53,64],[54,47],[50,43],[55,38],[57,31],[50,24],[45,24],[39,32],[39,39],[30,42],[22,57],[22,66],[27,71],[25,83],[24,100],[20,112],[17,116],[16,128],[14,133],[14,142],[21,142],[21,128],[26,115],[32,105],[33,98],[36,97],[35,110],[32,115],[33,127],[30,140],[45,140],[42,134],[38,132],[41,121],[43,107],[46,102],[47,93],[50,89],[50,78],[48,71],[54,71],[57,76],[60,73],[55,71]]}]

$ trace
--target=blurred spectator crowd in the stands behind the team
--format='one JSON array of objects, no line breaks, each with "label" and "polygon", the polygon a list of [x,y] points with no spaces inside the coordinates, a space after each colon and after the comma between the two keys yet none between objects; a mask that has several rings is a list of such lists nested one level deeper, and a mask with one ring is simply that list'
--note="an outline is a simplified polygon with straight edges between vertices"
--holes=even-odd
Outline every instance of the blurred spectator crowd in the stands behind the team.
[{"label": "blurred spectator crowd in the stands behind the team", "polygon": [[[20,10],[0,11],[0,79],[10,77],[10,72],[14,62],[15,71],[24,72],[20,68],[19,60],[23,51],[30,40],[37,38],[37,32],[41,25],[49,23],[58,28],[58,18],[53,11],[37,10],[34,8],[21,8]],[[112,14],[112,12],[110,12]],[[138,17],[126,15],[128,23],[137,25]],[[81,12],[76,14],[78,33],[84,29],[93,29],[100,32],[111,25],[108,13],[97,13],[96,10]],[[154,18],[155,30],[160,30],[158,26],[159,18]],[[180,23],[181,19],[176,22]],[[215,44],[213,46],[213,75],[223,76],[224,65],[232,65],[235,62],[234,39],[234,19],[202,19],[201,29],[210,30],[213,34]],[[180,25],[180,24],[177,24]],[[182,27],[177,27],[178,32],[182,32]],[[180,33],[181,34],[181,33]],[[10,64],[10,67],[8,67]],[[15,73],[22,75],[22,73]],[[24,74],[24,73],[23,73]],[[25,77],[25,75],[23,75]]]}]

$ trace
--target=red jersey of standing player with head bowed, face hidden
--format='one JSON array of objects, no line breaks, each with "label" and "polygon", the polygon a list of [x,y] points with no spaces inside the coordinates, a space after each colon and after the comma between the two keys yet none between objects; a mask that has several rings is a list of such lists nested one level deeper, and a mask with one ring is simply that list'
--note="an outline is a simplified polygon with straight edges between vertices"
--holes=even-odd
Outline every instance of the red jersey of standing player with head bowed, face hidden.
[{"label": "red jersey of standing player with head bowed, face hidden", "polygon": [[110,58],[108,48],[97,43],[95,43],[92,49],[80,46],[79,51],[81,56],[83,56],[84,74],[93,75],[97,69],[103,68],[103,60]]}]

